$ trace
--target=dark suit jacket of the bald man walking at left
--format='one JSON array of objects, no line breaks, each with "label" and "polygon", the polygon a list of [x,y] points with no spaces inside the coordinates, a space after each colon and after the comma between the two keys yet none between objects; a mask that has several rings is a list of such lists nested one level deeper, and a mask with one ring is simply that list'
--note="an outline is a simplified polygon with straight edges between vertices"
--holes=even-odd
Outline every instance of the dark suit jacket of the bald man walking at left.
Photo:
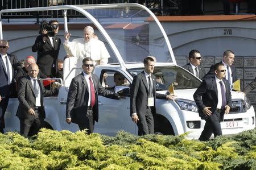
[{"label": "dark suit jacket of the bald man walking at left", "polygon": [[[46,112],[44,111],[44,96],[51,96],[55,93],[55,90],[46,90],[44,89],[42,80],[38,80],[38,84],[40,87],[40,102],[41,107],[39,107],[38,113],[40,117],[46,118]],[[28,114],[29,109],[35,110],[35,92],[30,80],[29,76],[23,77],[19,80],[18,84],[18,99],[19,99],[19,106],[16,113],[16,116],[19,119],[32,119],[32,115]]]}]

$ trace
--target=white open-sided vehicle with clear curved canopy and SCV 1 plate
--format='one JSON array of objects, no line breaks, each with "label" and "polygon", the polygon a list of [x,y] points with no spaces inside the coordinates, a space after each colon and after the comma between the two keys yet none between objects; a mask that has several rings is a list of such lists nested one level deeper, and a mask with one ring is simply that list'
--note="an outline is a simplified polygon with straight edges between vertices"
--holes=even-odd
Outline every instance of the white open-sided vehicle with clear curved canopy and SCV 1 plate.
[{"label": "white open-sided vehicle with clear curved canopy and SCV 1 plate", "polygon": [[[102,85],[114,86],[113,75],[118,72],[126,79],[125,86],[118,86],[115,91],[129,89],[133,76],[143,71],[143,58],[155,56],[154,74],[158,77],[157,93],[166,93],[167,87],[173,82],[175,86],[175,101],[156,99],[155,132],[166,135],[180,135],[190,132],[187,138],[199,138],[205,124],[197,113],[193,93],[201,80],[185,71],[176,64],[171,44],[162,25],[154,14],[146,7],[136,3],[112,5],[82,5],[55,6],[31,9],[2,10],[0,14],[24,11],[63,10],[65,31],[68,30],[67,12],[79,11],[86,18],[77,19],[82,23],[92,23],[100,31],[98,37],[105,39],[105,45],[110,53],[109,64],[97,66],[94,74],[100,77]],[[0,36],[2,22],[0,20]],[[81,35],[82,36],[82,35]],[[73,77],[81,73],[81,67],[73,67],[75,57],[64,61],[64,80],[59,94],[45,97],[46,126],[53,130],[79,130],[78,126],[65,122],[65,109],[69,84]],[[103,74],[108,73],[106,80]],[[138,128],[130,118],[129,93],[115,100],[99,96],[99,121],[95,124],[94,132],[114,135],[117,131],[125,130],[138,134]],[[19,131],[19,119],[15,117],[18,99],[11,98],[5,114],[7,131]],[[255,113],[249,99],[242,93],[232,92],[232,109],[221,122],[223,134],[236,134],[255,127]]]}]

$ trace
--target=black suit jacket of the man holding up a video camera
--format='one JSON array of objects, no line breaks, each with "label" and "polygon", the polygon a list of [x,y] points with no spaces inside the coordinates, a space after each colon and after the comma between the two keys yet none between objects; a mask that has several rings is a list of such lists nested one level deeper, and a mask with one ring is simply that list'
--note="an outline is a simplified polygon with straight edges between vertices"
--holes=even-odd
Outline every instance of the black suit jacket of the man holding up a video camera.
[{"label": "black suit jacket of the man holding up a video camera", "polygon": [[[55,36],[54,47],[52,47],[49,38],[44,43],[43,36],[39,35],[35,40],[35,44],[32,46],[32,52],[38,52],[36,64],[38,64],[40,71],[47,76],[51,76],[52,74],[56,76],[60,44],[61,40],[57,36]],[[55,65],[55,70],[52,69],[53,64]]]}]

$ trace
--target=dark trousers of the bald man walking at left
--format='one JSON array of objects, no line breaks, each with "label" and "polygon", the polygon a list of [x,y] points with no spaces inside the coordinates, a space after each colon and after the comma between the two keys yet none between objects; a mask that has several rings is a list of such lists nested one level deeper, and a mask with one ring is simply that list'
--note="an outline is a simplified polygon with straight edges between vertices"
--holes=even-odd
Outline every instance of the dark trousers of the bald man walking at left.
[{"label": "dark trousers of the bald man walking at left", "polygon": [[39,117],[38,110],[35,110],[35,115],[32,119],[20,120],[20,135],[24,137],[33,136],[38,134],[40,128],[42,128],[44,118]]}]

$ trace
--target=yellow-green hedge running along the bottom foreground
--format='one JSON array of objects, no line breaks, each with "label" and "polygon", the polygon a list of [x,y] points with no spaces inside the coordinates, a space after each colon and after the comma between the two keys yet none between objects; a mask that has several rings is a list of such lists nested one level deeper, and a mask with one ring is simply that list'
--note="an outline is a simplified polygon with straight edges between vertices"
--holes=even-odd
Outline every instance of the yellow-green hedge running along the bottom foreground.
[{"label": "yellow-green hedge running along the bottom foreground", "polygon": [[256,169],[256,130],[209,142],[184,135],[8,132],[0,134],[0,169]]}]

